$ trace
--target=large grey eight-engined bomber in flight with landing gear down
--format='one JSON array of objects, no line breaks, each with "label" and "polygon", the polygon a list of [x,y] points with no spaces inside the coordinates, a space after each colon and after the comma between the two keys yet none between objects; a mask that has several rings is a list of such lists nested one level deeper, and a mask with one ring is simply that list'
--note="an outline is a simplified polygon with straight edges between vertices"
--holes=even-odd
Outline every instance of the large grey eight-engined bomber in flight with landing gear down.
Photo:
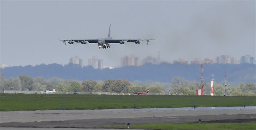
[{"label": "large grey eight-engined bomber in flight with landing gear down", "polygon": [[150,42],[150,40],[158,40],[158,39],[112,39],[110,36],[110,26],[109,25],[109,30],[108,30],[108,37],[107,38],[99,38],[99,39],[58,39],[60,41],[63,41],[63,43],[66,44],[68,41],[69,44],[74,44],[74,42],[80,42],[81,44],[87,44],[88,43],[98,43],[99,48],[110,48],[110,43],[119,43],[119,44],[124,44],[126,42],[134,42],[135,44],[140,44],[140,41],[147,41]]}]

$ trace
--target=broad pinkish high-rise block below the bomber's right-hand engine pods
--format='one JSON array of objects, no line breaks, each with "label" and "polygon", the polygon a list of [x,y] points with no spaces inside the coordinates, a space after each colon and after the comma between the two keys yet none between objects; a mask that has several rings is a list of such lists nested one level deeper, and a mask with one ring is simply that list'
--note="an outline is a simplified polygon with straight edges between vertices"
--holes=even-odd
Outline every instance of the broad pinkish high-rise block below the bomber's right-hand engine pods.
[{"label": "broad pinkish high-rise block below the bomber's right-hand engine pods", "polygon": [[125,56],[121,59],[121,66],[140,66],[141,61],[139,57],[136,57],[135,55],[131,56]]}]

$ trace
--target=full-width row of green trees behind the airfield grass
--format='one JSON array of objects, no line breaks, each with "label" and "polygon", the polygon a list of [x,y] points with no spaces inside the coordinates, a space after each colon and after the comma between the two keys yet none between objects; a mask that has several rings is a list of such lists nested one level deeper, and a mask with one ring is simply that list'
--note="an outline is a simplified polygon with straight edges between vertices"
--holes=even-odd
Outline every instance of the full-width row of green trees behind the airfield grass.
[{"label": "full-width row of green trees behind the airfield grass", "polygon": [[[223,95],[225,92],[224,82],[214,83],[214,94]],[[61,78],[50,78],[49,80],[39,76],[32,78],[28,75],[19,75],[16,78],[4,78],[0,73],[0,89],[5,90],[53,90],[61,92],[134,92],[149,89],[150,93],[161,94],[185,94],[195,95],[200,82],[189,81],[181,77],[174,77],[168,82],[134,81],[126,79],[119,80],[63,80]],[[210,94],[210,82],[204,83],[205,94]],[[226,87],[229,96],[256,96],[256,83],[230,83]]]}]

